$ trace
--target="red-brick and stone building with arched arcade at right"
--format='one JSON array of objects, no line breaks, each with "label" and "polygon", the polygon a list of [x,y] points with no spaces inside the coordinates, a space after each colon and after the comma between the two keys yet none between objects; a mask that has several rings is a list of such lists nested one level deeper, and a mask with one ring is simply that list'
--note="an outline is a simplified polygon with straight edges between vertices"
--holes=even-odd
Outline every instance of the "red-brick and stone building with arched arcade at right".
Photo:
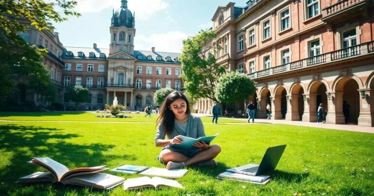
[{"label": "red-brick and stone building with arched arcade at right", "polygon": [[[249,0],[219,6],[213,30],[217,62],[256,82],[249,100],[257,117],[270,104],[275,119],[374,126],[374,2],[372,0]],[[214,104],[202,99],[200,113]],[[236,104],[236,109],[243,108]]]}]

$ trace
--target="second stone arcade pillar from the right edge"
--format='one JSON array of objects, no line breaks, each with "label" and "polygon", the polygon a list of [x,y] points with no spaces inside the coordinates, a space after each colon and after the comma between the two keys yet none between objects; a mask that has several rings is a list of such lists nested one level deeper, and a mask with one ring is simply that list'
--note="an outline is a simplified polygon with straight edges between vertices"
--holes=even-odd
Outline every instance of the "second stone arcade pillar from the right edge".
[{"label": "second stone arcade pillar from the right edge", "polygon": [[327,97],[327,116],[326,123],[329,124],[345,124],[343,114],[343,93],[342,91],[326,92]]}]

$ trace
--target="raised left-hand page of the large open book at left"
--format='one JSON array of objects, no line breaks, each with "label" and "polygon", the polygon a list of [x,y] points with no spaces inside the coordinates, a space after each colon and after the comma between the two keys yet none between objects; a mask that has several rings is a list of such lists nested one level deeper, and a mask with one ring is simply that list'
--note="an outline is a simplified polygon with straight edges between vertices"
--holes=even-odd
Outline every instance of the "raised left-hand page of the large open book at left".
[{"label": "raised left-hand page of the large open book at left", "polygon": [[48,157],[33,158],[31,162],[53,172],[53,174],[56,175],[58,182],[61,180],[61,177],[69,171],[69,169],[65,165]]}]

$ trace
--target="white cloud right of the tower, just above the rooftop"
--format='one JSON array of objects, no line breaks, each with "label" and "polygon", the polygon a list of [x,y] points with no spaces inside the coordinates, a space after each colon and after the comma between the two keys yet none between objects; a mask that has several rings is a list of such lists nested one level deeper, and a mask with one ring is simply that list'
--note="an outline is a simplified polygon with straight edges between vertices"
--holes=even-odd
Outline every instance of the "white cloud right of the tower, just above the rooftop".
[{"label": "white cloud right of the tower, just above the rooftop", "polygon": [[183,39],[188,35],[180,31],[171,31],[165,34],[152,34],[151,36],[135,36],[135,50],[150,51],[155,47],[157,52],[180,53],[183,48]]}]

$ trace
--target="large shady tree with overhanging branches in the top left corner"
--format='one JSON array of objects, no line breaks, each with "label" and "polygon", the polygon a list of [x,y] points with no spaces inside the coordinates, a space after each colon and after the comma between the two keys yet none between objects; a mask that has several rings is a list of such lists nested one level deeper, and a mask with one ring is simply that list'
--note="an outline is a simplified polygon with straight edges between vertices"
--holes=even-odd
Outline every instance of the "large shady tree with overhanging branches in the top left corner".
[{"label": "large shady tree with overhanging branches in the top left corner", "polygon": [[41,63],[42,55],[47,51],[29,45],[18,36],[18,33],[26,31],[27,23],[38,31],[51,30],[50,21],[62,22],[66,21],[68,16],[79,17],[80,14],[73,11],[76,4],[75,0],[0,1],[0,98],[14,90],[14,75],[26,79],[33,78],[34,82],[43,84],[42,88],[49,88],[49,73]]}]

